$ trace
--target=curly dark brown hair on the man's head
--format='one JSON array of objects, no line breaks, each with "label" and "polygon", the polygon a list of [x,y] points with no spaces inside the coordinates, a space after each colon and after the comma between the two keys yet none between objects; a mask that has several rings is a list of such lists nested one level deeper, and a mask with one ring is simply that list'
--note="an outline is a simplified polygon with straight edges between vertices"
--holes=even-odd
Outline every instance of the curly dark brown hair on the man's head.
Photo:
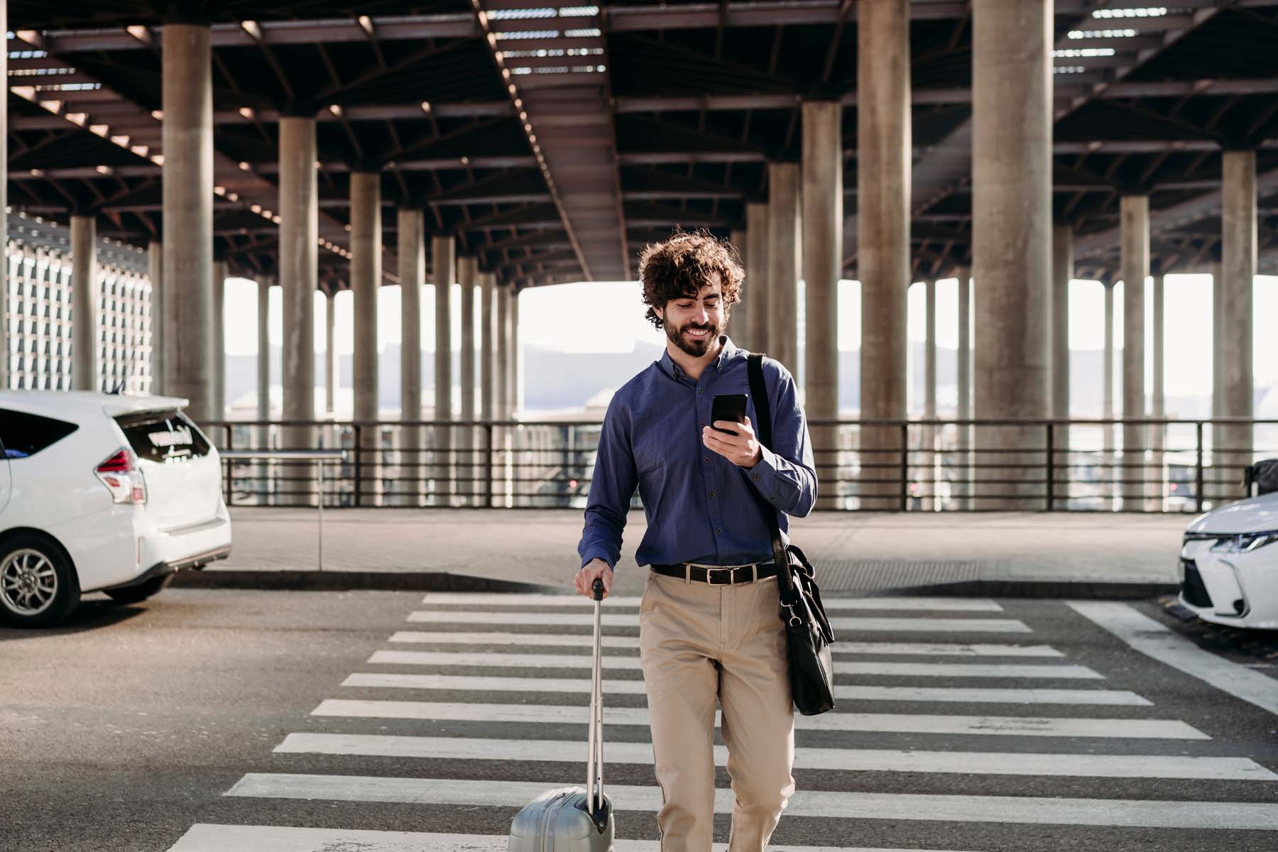
[{"label": "curly dark brown hair on the man's head", "polygon": [[702,287],[718,273],[723,284],[723,313],[741,300],[741,255],[725,239],[702,229],[694,232],[675,231],[665,243],[649,244],[639,255],[639,280],[643,281],[645,318],[658,330],[663,327],[656,308],[666,309],[671,299],[697,298]]}]

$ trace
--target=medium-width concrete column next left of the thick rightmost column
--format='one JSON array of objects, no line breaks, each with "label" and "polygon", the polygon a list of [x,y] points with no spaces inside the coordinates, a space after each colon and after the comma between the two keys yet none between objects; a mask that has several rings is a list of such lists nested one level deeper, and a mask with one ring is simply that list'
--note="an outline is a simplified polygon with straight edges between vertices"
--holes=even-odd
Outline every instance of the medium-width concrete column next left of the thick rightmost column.
[{"label": "medium-width concrete column next left of the thick rightmost column", "polygon": [[[1145,413],[1145,278],[1149,276],[1149,195],[1123,195],[1120,202],[1122,276],[1122,416],[1141,419]],[[1148,424],[1125,423],[1120,479],[1123,507],[1144,507],[1149,479],[1145,470]]]}]

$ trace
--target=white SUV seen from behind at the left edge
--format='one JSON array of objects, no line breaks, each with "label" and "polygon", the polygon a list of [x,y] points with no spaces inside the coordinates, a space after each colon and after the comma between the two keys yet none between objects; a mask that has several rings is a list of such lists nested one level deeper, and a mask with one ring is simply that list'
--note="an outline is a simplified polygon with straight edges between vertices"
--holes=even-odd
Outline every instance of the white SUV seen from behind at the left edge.
[{"label": "white SUV seen from behind at the left edge", "polygon": [[84,591],[135,603],[230,554],[221,460],[185,405],[0,391],[0,620],[55,625]]}]

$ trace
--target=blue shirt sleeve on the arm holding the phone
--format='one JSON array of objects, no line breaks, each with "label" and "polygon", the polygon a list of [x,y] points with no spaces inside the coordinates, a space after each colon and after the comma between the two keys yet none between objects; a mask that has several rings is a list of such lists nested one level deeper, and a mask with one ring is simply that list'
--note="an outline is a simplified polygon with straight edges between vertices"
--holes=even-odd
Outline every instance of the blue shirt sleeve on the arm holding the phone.
[{"label": "blue shirt sleeve on the arm holding the phone", "polygon": [[817,503],[817,466],[808,419],[799,405],[794,377],[783,367],[774,384],[768,393],[772,448],[762,447],[759,464],[744,470],[764,499],[786,515],[806,517]]}]

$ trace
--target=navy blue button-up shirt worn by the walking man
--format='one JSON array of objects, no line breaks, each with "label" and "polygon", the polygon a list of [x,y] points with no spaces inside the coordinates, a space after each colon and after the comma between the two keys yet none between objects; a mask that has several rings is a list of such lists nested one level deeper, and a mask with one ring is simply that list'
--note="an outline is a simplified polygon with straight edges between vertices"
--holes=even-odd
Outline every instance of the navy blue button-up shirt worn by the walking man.
[{"label": "navy blue button-up shirt worn by the walking man", "polygon": [[[720,341],[720,355],[699,379],[686,376],[666,351],[613,395],[603,418],[585,528],[576,548],[583,566],[599,558],[616,567],[635,488],[648,517],[635,553],[640,566],[772,561],[768,522],[751,491],[778,510],[786,543],[786,516],[812,512],[817,502],[812,439],[794,377],[780,361],[763,359],[772,450],[763,448],[759,464],[741,468],[702,442],[714,395],[750,392],[749,353],[734,346],[726,335]],[[746,402],[746,414],[751,424],[759,422],[753,399]]]}]

